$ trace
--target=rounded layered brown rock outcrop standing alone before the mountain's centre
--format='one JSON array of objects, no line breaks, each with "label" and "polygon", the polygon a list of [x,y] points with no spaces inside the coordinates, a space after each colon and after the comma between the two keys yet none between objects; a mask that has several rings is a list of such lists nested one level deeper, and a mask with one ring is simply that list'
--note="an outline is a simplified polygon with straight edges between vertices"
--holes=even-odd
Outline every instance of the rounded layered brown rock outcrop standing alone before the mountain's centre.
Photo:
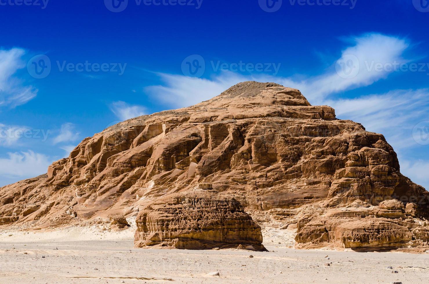
[{"label": "rounded layered brown rock outcrop standing alone before the mountain's centre", "polygon": [[136,247],[242,248],[266,251],[261,228],[236,199],[214,190],[175,193],[144,208],[136,220]]}]

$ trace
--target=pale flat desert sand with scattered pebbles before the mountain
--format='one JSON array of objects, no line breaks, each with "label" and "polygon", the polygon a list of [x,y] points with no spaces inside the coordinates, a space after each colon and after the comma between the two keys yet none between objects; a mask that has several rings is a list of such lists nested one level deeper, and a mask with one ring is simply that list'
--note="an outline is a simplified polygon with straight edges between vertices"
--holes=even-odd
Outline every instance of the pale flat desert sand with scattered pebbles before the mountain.
[{"label": "pale flat desert sand with scattered pebbles before the mountain", "polygon": [[429,283],[429,254],[296,250],[275,228],[269,252],[136,249],[134,231],[0,229],[0,283]]}]

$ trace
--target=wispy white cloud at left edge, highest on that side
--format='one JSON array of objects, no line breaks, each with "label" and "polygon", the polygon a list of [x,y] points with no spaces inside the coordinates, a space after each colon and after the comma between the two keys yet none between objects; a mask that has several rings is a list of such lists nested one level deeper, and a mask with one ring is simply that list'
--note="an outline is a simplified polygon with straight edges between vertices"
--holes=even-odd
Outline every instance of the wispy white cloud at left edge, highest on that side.
[{"label": "wispy white cloud at left edge, highest on that side", "polygon": [[14,77],[18,69],[25,67],[21,60],[24,54],[20,48],[0,50],[0,106],[14,108],[36,97],[37,89]]}]

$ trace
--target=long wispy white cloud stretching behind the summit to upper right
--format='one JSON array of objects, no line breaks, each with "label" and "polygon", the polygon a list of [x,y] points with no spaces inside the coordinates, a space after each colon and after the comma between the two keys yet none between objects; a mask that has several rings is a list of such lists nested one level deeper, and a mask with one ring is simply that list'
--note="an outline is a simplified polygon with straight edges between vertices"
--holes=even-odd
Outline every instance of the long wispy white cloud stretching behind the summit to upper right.
[{"label": "long wispy white cloud stretching behind the summit to upper right", "polygon": [[[349,79],[343,78],[345,74],[342,74],[342,72],[344,70],[340,69],[339,74],[337,73],[335,69],[336,63],[333,62],[331,68],[325,73],[300,81],[296,81],[293,78],[268,75],[242,76],[233,72],[222,72],[212,79],[158,73],[164,85],[149,86],[145,90],[152,97],[163,103],[174,107],[183,107],[208,100],[236,83],[255,80],[259,82],[276,82],[287,87],[297,88],[307,97],[310,103],[321,104],[330,94],[350,88],[371,85],[380,79],[386,78],[390,72],[376,71],[375,67],[372,66],[376,63],[385,65],[386,63],[406,62],[406,60],[402,59],[402,53],[409,45],[405,39],[385,36],[379,33],[369,33],[349,40],[353,43],[353,46],[345,48],[338,59],[339,61],[347,59],[349,54],[357,58],[357,61],[355,61],[358,63],[352,63],[359,66],[358,72],[355,74],[356,76]],[[367,66],[372,66],[372,68],[367,68]]]}]

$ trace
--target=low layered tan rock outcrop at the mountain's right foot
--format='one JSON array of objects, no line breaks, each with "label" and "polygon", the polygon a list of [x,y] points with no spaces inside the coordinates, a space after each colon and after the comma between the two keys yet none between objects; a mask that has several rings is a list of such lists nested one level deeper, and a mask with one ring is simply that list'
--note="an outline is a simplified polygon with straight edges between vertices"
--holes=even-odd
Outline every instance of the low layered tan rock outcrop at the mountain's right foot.
[{"label": "low layered tan rock outcrop at the mountain's right foot", "polygon": [[[354,204],[347,208],[316,208],[316,212],[299,218],[297,246],[392,248],[427,245],[429,228],[421,220],[412,218],[402,202],[387,200],[382,203],[380,206]],[[393,207],[386,208],[392,204]]]}]

